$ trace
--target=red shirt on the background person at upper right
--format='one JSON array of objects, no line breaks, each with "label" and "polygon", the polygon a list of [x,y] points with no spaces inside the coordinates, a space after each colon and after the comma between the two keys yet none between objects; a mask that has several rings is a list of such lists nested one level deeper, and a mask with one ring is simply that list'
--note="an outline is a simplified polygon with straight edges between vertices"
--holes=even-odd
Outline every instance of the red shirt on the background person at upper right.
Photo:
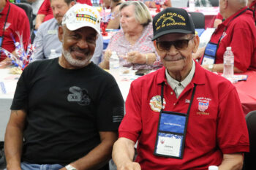
[{"label": "red shirt on the background person at upper right", "polygon": [[223,63],[223,54],[226,47],[232,47],[235,56],[234,65],[243,72],[246,72],[247,69],[256,70],[255,20],[252,11],[249,10],[238,15],[246,8],[244,7],[219,24],[217,30],[211,36],[211,42],[217,44],[226,28],[226,35],[219,42],[215,63]]}]

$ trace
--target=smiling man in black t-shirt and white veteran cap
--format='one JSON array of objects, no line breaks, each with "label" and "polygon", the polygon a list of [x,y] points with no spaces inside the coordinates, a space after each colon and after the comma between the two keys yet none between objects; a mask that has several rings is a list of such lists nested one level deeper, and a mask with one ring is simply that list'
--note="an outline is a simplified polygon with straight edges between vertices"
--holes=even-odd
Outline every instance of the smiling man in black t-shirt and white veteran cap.
[{"label": "smiling man in black t-shirt and white veteran cap", "polygon": [[124,100],[90,62],[99,25],[96,9],[76,4],[59,27],[61,57],[24,69],[6,130],[7,169],[108,169]]}]

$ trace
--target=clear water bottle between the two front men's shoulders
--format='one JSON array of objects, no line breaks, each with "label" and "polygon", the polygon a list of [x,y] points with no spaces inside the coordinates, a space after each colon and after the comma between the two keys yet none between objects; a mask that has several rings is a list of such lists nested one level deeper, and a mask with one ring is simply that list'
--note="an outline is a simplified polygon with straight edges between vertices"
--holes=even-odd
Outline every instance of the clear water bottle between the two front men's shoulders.
[{"label": "clear water bottle between the two front men's shoulders", "polygon": [[112,74],[113,77],[116,78],[116,80],[119,79],[119,68],[120,68],[120,63],[119,63],[118,55],[116,54],[116,51],[113,51],[109,59],[109,70],[110,70],[110,74]]}]

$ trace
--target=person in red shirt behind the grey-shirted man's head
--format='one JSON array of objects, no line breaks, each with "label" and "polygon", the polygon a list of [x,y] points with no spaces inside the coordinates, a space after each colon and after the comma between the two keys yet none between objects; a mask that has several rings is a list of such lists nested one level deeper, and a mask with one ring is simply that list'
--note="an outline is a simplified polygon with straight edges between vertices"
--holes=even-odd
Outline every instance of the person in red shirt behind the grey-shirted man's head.
[{"label": "person in red shirt behind the grey-shirted man's head", "polygon": [[[91,0],[77,0],[77,2],[92,6]],[[53,18],[53,10],[50,7],[50,0],[45,0],[42,2],[42,5],[37,12],[36,25],[34,28],[38,29],[41,23],[45,22],[46,20],[50,20],[51,18]]]}]

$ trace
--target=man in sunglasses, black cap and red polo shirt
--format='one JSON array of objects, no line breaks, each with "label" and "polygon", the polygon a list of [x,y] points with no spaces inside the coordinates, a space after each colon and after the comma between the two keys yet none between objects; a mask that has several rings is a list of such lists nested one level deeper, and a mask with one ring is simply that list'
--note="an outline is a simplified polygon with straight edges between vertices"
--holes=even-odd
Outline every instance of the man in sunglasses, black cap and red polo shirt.
[{"label": "man in sunglasses, black cap and red polo shirt", "polygon": [[192,59],[199,37],[186,10],[164,9],[153,26],[164,67],[131,84],[112,152],[117,169],[241,169],[249,137],[236,88]]}]

